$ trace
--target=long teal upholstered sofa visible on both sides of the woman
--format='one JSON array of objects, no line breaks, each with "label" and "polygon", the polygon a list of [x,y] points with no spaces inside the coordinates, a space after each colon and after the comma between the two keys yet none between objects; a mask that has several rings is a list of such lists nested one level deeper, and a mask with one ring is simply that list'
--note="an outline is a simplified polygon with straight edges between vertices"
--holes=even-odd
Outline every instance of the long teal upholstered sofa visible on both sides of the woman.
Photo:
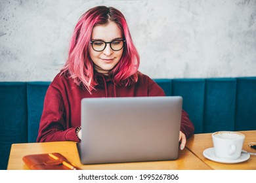
[{"label": "long teal upholstered sofa visible on both sides of the woman", "polygon": [[[256,129],[256,76],[154,79],[166,95],[183,97],[195,133]],[[11,144],[35,142],[50,82],[0,82],[0,169]]]}]

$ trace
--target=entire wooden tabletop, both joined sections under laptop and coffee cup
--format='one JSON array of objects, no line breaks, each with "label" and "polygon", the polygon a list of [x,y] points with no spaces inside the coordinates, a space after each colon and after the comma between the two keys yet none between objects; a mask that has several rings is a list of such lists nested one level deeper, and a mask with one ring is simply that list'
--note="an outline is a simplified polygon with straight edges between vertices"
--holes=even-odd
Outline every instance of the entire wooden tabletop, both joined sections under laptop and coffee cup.
[{"label": "entire wooden tabletop, both joined sections under laptop and coffee cup", "polygon": [[[256,131],[241,131],[245,135],[244,150],[256,152],[247,145],[256,141]],[[41,142],[12,144],[8,170],[22,170],[28,167],[22,157],[28,154],[59,152],[81,169],[89,170],[205,170],[205,169],[256,169],[256,156],[235,164],[217,163],[203,156],[203,150],[213,147],[211,133],[196,134],[188,139],[186,148],[180,150],[179,159],[173,161],[150,161],[137,163],[108,163],[100,165],[82,165],[79,160],[76,142]]]}]

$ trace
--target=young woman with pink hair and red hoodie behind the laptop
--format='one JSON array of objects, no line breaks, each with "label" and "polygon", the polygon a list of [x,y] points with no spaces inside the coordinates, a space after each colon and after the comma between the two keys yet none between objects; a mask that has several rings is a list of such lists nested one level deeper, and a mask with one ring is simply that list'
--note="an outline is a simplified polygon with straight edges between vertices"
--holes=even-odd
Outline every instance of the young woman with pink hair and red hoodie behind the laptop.
[{"label": "young woman with pink hair and red hoodie behind the laptop", "polygon": [[[138,71],[139,54],[123,14],[113,7],[91,8],[77,22],[66,64],[45,95],[37,142],[81,140],[81,99],[164,96]],[[181,149],[194,133],[182,110]]]}]

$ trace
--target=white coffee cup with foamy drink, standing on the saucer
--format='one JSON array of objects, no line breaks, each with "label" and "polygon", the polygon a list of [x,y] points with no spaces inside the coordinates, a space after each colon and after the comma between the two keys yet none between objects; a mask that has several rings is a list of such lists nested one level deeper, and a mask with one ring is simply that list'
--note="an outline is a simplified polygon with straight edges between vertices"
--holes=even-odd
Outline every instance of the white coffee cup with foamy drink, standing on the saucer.
[{"label": "white coffee cup with foamy drink, standing on the saucer", "polygon": [[236,131],[217,131],[212,134],[215,156],[224,159],[240,157],[245,135]]}]

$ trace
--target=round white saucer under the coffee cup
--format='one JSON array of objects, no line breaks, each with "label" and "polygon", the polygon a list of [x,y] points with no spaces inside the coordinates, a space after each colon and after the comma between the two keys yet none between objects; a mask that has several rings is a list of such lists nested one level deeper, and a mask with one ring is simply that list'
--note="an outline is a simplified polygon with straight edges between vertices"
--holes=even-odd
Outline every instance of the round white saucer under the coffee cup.
[{"label": "round white saucer under the coffee cup", "polygon": [[215,156],[214,148],[207,148],[203,151],[203,156],[207,159],[210,159],[211,161],[216,161],[219,163],[240,163],[243,161],[246,161],[250,158],[250,155],[247,153],[241,153],[241,156],[238,159],[224,159],[224,158],[218,158]]}]

